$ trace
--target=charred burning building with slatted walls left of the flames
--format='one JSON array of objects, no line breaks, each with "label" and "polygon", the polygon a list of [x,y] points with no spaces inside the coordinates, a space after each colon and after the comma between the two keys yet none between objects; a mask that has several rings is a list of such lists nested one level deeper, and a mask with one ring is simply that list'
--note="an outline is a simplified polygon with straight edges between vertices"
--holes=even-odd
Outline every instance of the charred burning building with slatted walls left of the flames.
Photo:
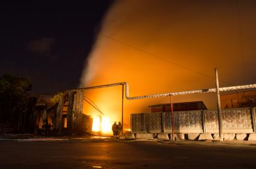
[{"label": "charred burning building with slatted walls left of the flames", "polygon": [[82,90],[69,90],[56,95],[34,95],[30,96],[29,102],[29,111],[19,117],[20,132],[73,135],[92,131],[92,117],[82,112]]}]

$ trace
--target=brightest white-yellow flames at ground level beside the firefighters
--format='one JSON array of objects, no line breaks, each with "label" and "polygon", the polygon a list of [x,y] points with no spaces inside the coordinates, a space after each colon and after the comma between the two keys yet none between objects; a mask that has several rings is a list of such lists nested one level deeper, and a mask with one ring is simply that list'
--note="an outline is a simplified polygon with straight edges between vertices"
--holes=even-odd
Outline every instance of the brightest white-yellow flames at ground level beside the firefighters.
[{"label": "brightest white-yellow flames at ground level beside the firefighters", "polygon": [[93,117],[93,131],[101,131],[103,134],[110,134],[112,129],[109,117],[102,117],[102,122],[100,122],[99,116]]}]

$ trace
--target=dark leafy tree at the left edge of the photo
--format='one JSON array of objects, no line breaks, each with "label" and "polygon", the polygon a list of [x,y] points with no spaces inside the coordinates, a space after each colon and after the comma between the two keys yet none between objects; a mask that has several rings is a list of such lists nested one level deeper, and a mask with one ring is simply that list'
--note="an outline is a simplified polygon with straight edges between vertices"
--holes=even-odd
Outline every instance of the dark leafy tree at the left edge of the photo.
[{"label": "dark leafy tree at the left edge of the photo", "polygon": [[16,123],[17,116],[26,109],[31,83],[23,77],[5,74],[0,77],[0,119]]}]

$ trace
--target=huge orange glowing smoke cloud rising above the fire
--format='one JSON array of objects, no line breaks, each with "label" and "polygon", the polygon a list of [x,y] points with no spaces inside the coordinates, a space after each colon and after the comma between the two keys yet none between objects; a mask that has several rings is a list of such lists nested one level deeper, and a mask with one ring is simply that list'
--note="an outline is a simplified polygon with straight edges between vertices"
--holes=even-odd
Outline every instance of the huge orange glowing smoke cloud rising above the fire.
[{"label": "huge orange glowing smoke cloud rising above the fire", "polygon": [[[241,85],[243,76],[237,14],[233,13],[232,5],[227,6],[221,1],[202,3],[207,5],[198,6],[194,1],[114,3],[104,17],[101,32],[85,61],[80,87],[125,81],[129,83],[130,96],[213,88],[216,67],[220,80]],[[213,10],[218,13],[213,13]],[[243,29],[247,32],[243,36],[246,84],[255,83],[256,79],[253,73],[256,72],[256,50],[255,43],[252,43],[256,42],[256,22],[249,13],[254,13],[254,10],[248,11],[242,20]],[[230,84],[220,82],[220,86]],[[110,126],[115,121],[121,122],[121,88],[116,86],[84,92],[109,118]],[[207,108],[216,108],[215,93],[174,96],[173,99],[174,102],[204,101]],[[124,128],[130,128],[131,113],[150,112],[148,105],[168,102],[169,97],[124,99]],[[84,102],[83,112],[92,116],[99,114],[87,102]]]}]

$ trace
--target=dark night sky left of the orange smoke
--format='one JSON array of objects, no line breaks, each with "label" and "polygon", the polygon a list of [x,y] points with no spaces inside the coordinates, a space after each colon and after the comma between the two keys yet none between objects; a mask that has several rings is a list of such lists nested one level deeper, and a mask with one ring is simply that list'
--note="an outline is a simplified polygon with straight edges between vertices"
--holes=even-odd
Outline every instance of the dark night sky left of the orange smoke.
[{"label": "dark night sky left of the orange smoke", "polygon": [[28,77],[33,93],[77,87],[109,5],[1,4],[0,76]]}]

